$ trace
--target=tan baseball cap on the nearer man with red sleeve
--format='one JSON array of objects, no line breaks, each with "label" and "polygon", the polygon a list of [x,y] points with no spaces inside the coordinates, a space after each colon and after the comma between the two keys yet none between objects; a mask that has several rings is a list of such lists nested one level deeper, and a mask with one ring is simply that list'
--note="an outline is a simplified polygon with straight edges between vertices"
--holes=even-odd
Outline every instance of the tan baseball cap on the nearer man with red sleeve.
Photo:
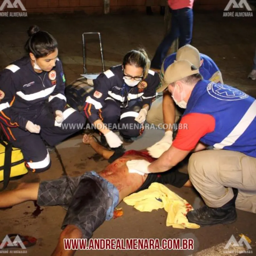
[{"label": "tan baseball cap on the nearer man with red sleeve", "polygon": [[188,60],[174,61],[174,63],[166,69],[164,77],[161,79],[161,86],[156,92],[162,92],[169,84],[194,74],[199,74],[199,69]]}]

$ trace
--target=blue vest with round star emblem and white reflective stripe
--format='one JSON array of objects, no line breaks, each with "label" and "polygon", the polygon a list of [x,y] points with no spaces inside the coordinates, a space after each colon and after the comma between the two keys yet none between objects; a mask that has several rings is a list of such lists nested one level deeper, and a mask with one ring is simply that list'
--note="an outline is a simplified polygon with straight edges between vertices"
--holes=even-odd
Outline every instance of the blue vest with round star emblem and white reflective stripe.
[{"label": "blue vest with round star emblem and white reflective stripe", "polygon": [[256,157],[255,98],[232,86],[202,80],[187,102],[184,115],[189,113],[209,114],[215,119],[214,131],[203,136],[202,143]]}]

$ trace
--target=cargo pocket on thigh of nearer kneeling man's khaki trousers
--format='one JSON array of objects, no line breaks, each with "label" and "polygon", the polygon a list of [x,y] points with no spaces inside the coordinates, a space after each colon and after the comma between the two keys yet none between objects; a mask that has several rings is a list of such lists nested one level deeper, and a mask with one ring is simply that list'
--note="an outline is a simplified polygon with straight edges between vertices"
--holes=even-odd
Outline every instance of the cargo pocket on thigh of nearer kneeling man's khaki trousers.
[{"label": "cargo pocket on thigh of nearer kneeling man's khaki trousers", "polygon": [[225,187],[243,187],[241,157],[219,157],[220,180]]}]

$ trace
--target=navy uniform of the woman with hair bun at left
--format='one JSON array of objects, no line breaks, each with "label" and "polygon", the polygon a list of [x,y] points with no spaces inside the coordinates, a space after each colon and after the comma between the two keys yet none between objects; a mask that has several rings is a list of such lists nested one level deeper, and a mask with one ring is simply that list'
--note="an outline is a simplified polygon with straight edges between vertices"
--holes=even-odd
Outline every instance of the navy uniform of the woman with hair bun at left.
[{"label": "navy uniform of the woman with hair bun at left", "polygon": [[[26,166],[34,172],[50,167],[49,153],[42,139],[54,146],[79,130],[84,117],[66,106],[65,77],[59,59],[50,72],[36,73],[29,57],[23,57],[0,72],[0,125],[5,137],[20,148]],[[65,120],[55,121],[61,110]],[[26,130],[31,121],[41,126],[39,134]],[[64,123],[80,123],[80,127]],[[82,129],[82,127],[80,128]]]}]

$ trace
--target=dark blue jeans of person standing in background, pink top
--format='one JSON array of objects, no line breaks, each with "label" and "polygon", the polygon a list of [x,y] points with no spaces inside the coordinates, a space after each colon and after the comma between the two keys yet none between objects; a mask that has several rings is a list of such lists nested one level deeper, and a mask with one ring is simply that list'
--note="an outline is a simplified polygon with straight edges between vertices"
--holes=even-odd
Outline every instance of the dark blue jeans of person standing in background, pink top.
[{"label": "dark blue jeans of person standing in background, pink top", "polygon": [[151,67],[161,69],[161,65],[168,53],[169,48],[176,38],[179,38],[179,48],[190,44],[193,30],[193,10],[182,8],[172,10],[172,25],[170,32],[165,36],[161,44],[156,49],[154,58],[151,61]]}]

